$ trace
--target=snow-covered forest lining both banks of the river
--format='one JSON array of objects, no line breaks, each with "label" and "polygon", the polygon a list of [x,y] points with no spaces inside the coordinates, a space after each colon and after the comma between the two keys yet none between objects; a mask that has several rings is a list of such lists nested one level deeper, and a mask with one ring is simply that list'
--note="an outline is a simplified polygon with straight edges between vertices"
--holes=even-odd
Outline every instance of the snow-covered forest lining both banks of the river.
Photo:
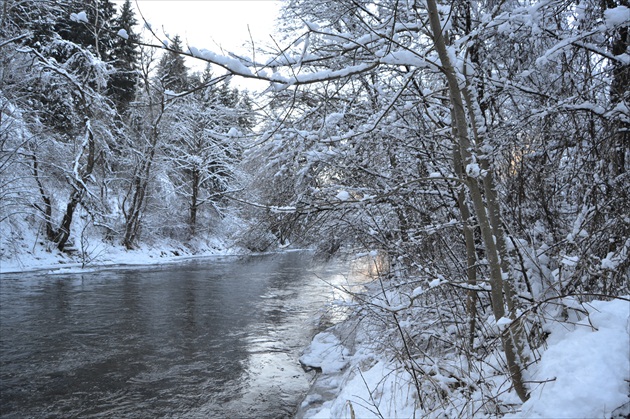
[{"label": "snow-covered forest lining both banks of the river", "polygon": [[628,0],[286,0],[275,44],[227,55],[130,0],[5,0],[0,259],[378,254],[356,316],[416,417],[513,413],[551,325],[628,306],[629,22]]}]

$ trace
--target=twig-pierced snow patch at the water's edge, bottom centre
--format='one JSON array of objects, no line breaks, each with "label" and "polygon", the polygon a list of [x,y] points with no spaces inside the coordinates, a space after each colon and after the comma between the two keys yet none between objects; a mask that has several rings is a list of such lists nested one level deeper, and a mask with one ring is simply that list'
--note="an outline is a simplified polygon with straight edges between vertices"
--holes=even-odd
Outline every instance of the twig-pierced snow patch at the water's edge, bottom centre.
[{"label": "twig-pierced snow patch at the water's edge, bottom centre", "polygon": [[[411,418],[414,390],[400,365],[378,353],[356,319],[315,336],[300,358],[321,368],[296,418]],[[356,335],[355,335],[356,334]]]}]

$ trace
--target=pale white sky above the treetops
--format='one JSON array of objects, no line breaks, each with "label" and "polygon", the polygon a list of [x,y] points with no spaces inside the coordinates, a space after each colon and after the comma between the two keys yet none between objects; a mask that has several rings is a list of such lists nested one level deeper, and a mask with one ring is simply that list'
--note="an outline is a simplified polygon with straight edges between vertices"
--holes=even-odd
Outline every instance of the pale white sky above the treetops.
[{"label": "pale white sky above the treetops", "polygon": [[[123,2],[114,0],[118,10]],[[248,27],[257,43],[271,40],[281,3],[278,0],[132,0],[154,30],[161,32],[163,28],[171,37],[180,35],[184,48],[191,45],[215,52],[223,48],[244,54],[251,50]],[[139,22],[142,16],[136,13]],[[196,69],[205,67],[199,60],[190,59],[187,64]]]}]

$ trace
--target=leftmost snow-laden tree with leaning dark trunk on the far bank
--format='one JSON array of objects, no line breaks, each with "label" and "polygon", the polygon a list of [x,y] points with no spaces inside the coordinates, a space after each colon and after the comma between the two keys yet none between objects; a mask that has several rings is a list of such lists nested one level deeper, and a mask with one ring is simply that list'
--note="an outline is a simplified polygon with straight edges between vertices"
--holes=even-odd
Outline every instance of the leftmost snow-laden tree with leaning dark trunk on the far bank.
[{"label": "leftmost snow-laden tree with leaning dark trunk on the far bank", "polygon": [[[12,6],[5,24],[18,28],[28,4]],[[79,208],[91,221],[102,220],[94,175],[112,143],[113,112],[100,93],[107,83],[106,64],[90,48],[54,30],[39,31],[42,21],[61,19],[54,6],[35,5],[42,12],[39,19],[4,44],[1,89],[20,115],[21,136],[28,138],[11,158],[30,168],[32,208],[41,217],[44,236],[63,250],[72,242]]]}]

